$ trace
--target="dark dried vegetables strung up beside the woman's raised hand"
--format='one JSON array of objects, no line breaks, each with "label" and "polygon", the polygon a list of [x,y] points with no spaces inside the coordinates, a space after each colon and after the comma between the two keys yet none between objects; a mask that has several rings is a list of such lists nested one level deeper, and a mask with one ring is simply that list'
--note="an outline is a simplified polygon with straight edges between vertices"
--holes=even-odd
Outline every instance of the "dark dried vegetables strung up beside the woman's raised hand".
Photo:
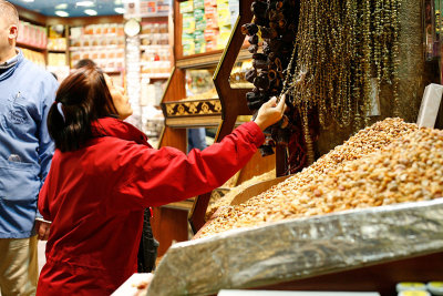
[{"label": "dark dried vegetables strung up beside the woman's raised hand", "polygon": [[[295,0],[255,0],[250,7],[253,22],[241,27],[241,32],[248,35],[248,50],[253,53],[253,69],[245,74],[246,80],[255,85],[246,94],[248,108],[253,112],[281,93],[284,70],[292,62],[290,57],[298,23],[295,17],[295,11],[298,10],[296,6],[298,1],[296,3]],[[262,47],[259,47],[261,41]],[[266,142],[260,147],[261,155],[274,154],[272,147],[276,144],[289,143],[292,132],[282,125],[284,122],[265,131]]]}]

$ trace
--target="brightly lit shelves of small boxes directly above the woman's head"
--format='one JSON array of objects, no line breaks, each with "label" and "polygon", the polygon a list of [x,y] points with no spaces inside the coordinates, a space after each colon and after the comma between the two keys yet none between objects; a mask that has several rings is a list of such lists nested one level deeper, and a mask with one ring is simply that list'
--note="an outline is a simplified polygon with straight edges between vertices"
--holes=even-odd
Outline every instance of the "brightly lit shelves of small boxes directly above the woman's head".
[{"label": "brightly lit shelves of small boxes directly above the woman's head", "polygon": [[93,60],[106,72],[119,72],[125,64],[123,24],[102,23],[72,27],[70,34],[70,65],[82,59]]}]

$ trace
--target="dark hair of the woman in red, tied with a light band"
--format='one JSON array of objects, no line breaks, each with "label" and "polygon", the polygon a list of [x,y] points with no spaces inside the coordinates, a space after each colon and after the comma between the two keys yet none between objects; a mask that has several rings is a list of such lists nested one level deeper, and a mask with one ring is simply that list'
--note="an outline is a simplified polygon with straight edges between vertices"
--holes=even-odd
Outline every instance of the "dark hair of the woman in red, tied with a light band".
[{"label": "dark hair of the woman in red, tied with a light band", "polygon": [[48,130],[56,149],[74,151],[92,137],[91,122],[115,114],[103,72],[93,65],[83,67],[60,84],[48,114]]}]

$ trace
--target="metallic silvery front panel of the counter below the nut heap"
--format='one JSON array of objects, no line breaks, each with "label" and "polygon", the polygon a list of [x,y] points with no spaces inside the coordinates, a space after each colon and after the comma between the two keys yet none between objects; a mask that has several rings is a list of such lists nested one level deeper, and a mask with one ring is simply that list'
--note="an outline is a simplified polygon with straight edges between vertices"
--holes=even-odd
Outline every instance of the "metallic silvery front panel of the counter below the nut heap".
[{"label": "metallic silvery front panel of the counter below the nut heap", "polygon": [[399,282],[443,277],[442,226],[439,198],[233,229],[173,245],[147,295],[264,287],[394,295]]}]

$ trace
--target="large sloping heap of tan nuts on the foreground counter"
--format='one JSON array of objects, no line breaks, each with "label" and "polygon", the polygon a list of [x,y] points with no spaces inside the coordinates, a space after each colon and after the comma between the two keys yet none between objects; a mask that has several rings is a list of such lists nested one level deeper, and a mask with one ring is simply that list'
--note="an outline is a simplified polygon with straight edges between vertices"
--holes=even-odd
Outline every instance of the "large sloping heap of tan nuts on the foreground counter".
[{"label": "large sloping heap of tan nuts on the foreground counter", "polygon": [[443,196],[443,131],[387,119],[247,203],[226,207],[200,237],[266,222]]}]

